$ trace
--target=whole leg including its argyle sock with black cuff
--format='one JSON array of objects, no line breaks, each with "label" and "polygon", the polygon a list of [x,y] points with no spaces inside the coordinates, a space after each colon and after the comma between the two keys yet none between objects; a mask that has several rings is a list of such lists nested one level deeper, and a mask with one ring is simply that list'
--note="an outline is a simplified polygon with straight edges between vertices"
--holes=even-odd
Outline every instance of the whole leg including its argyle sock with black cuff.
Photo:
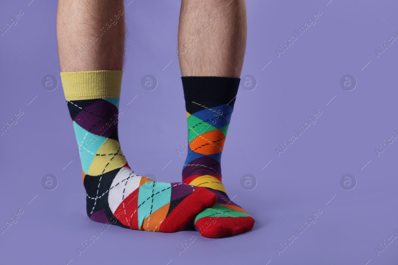
[{"label": "whole leg including its argyle sock with black cuff", "polygon": [[178,48],[189,142],[183,182],[218,198],[195,228],[209,238],[247,232],[254,219],[226,194],[220,166],[246,48],[244,0],[182,0]]}]

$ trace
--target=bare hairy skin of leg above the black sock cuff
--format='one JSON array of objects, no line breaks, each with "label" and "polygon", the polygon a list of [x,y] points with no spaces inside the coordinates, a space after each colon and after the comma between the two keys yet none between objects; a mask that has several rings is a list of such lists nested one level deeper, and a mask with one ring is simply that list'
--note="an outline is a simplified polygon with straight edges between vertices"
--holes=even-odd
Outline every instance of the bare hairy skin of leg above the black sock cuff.
[{"label": "bare hairy skin of leg above the black sock cuff", "polygon": [[244,0],[182,0],[178,53],[183,76],[240,77],[245,49]]}]

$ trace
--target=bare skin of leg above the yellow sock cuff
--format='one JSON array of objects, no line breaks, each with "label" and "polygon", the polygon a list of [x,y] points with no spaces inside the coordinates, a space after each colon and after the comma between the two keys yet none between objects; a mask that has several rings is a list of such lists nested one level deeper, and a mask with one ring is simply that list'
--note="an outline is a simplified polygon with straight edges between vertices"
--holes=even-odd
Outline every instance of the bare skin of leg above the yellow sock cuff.
[{"label": "bare skin of leg above the yellow sock cuff", "polygon": [[59,0],[57,39],[62,72],[122,70],[123,0]]}]

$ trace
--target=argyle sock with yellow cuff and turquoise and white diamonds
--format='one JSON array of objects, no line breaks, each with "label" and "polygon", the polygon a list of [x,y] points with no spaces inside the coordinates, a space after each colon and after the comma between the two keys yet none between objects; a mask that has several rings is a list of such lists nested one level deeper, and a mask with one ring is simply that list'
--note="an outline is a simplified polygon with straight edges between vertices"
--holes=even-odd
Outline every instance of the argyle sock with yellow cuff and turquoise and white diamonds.
[{"label": "argyle sock with yellow cuff and turquoise and white diamonds", "polygon": [[125,228],[176,232],[216,203],[206,188],[135,174],[118,134],[122,71],[61,73],[83,169],[87,214]]}]

